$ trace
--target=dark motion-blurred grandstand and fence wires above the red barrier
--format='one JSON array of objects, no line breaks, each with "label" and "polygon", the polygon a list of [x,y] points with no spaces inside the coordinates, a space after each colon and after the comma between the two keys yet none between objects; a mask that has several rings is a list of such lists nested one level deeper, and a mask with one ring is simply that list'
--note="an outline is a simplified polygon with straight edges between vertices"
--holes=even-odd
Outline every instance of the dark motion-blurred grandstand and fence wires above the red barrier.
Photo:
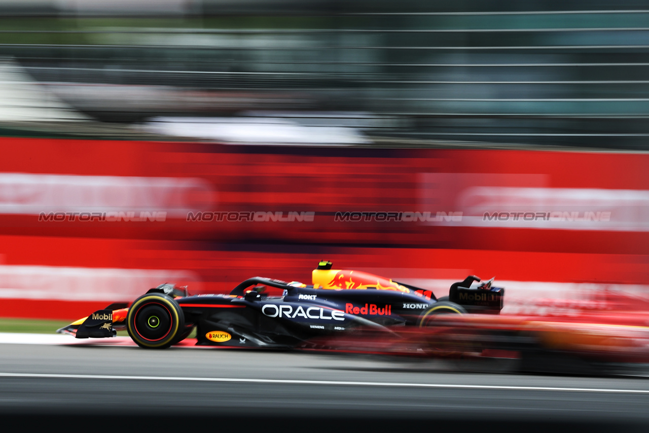
[{"label": "dark motion-blurred grandstand and fence wires above the red barrier", "polygon": [[51,95],[3,97],[3,130],[25,128],[12,107],[52,103],[84,134],[88,119],[234,116],[365,145],[649,147],[644,2],[106,3],[0,0],[0,94],[19,74]]}]

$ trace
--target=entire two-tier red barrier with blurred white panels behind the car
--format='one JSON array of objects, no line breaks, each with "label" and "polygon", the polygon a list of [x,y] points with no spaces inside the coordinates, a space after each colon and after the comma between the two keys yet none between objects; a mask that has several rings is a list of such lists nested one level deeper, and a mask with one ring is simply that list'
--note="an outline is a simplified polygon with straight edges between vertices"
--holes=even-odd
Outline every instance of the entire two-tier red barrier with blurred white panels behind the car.
[{"label": "entire two-tier red barrier with blurred white panels behind the car", "polygon": [[[135,275],[123,270],[164,271],[138,278],[148,284],[173,276],[195,293],[229,291],[252,275],[308,282],[323,258],[422,281],[474,273],[643,284],[649,276],[647,154],[1,138],[0,155],[0,316],[74,319],[91,305],[132,300],[108,299],[110,293],[97,299],[93,293],[105,290],[101,281],[112,272],[106,269],[116,269],[115,284]],[[142,207],[129,191],[151,203]],[[111,206],[169,216],[38,221],[41,212]],[[188,209],[315,214],[313,221],[186,221]],[[501,209],[592,210],[611,218],[480,217]],[[336,212],[354,211],[461,212],[463,220],[336,221]],[[25,277],[32,274],[39,277]],[[77,297],[60,299],[56,293],[69,284]],[[115,295],[129,290],[140,289]],[[54,304],[42,299],[57,304],[49,308]]]}]

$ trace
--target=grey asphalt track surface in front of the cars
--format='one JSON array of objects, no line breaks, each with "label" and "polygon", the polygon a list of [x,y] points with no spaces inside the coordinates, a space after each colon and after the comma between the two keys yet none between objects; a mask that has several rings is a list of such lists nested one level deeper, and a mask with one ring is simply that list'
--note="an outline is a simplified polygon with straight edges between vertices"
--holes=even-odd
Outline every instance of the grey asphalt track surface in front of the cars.
[{"label": "grey asphalt track surface in front of the cars", "polygon": [[649,378],[462,373],[324,353],[0,344],[5,426],[190,421],[245,431],[646,432]]}]

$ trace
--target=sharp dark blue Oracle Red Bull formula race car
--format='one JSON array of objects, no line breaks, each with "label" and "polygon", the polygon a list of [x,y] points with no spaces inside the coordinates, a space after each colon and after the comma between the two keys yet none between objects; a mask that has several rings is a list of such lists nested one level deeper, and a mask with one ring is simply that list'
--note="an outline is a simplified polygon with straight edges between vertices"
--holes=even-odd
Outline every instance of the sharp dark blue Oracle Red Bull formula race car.
[{"label": "sharp dark blue Oracle Red Bull formula race car", "polygon": [[[57,332],[76,338],[104,338],[127,329],[140,347],[164,349],[197,328],[197,344],[289,349],[312,339],[357,328],[394,333],[399,325],[426,327],[439,314],[499,314],[504,289],[493,278],[482,284],[469,276],[450,287],[448,297],[361,271],[331,269],[320,262],[311,285],[249,278],[229,295],[188,294],[162,284],[126,304],[111,304]],[[263,293],[283,290],[281,296]]]}]

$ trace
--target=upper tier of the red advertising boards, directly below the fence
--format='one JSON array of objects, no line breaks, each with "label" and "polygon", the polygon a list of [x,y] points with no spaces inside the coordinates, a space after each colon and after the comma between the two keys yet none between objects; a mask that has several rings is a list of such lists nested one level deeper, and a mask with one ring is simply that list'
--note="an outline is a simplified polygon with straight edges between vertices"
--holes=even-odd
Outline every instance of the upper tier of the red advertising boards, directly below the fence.
[{"label": "upper tier of the red advertising boards, directly below the fence", "polygon": [[649,253],[645,153],[0,139],[3,234]]}]

